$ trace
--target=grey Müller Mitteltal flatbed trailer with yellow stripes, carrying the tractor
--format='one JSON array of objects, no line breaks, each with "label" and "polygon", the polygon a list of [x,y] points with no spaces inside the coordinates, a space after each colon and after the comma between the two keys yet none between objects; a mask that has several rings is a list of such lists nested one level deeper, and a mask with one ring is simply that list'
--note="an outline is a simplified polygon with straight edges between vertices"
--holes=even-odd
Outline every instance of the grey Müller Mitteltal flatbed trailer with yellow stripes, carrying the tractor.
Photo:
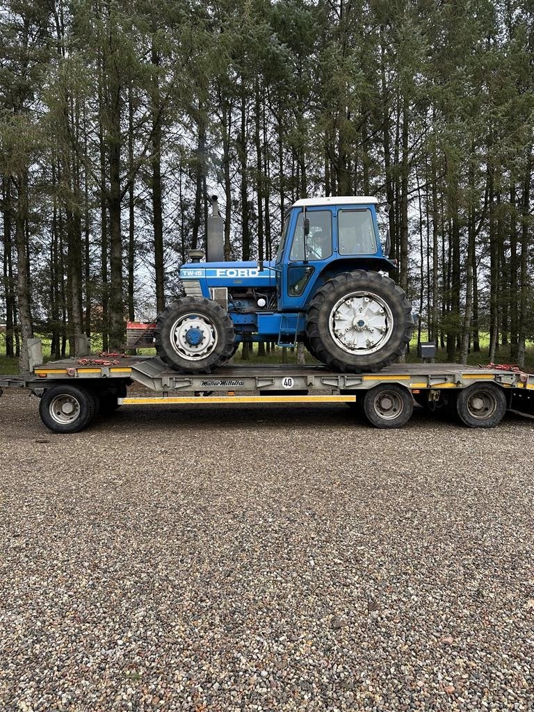
[{"label": "grey M\u00fcller Mitteltal flatbed trailer with yellow stripes, carrying the tractor", "polygon": [[[146,392],[128,389],[133,384]],[[379,428],[404,426],[414,403],[446,412],[469,427],[496,426],[507,410],[534,416],[534,375],[513,368],[396,364],[376,373],[338,373],[322,365],[226,365],[182,374],[150,356],[94,355],[1,376],[1,389],[26,388],[53,432],[73,433],[120,406],[346,403]],[[0,411],[1,418],[1,411]]]}]

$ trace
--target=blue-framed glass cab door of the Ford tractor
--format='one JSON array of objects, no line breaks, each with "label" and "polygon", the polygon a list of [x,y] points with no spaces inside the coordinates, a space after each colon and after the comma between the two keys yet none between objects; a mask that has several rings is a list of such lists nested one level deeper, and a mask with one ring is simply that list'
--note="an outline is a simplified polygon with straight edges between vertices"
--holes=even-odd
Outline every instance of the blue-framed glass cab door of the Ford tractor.
[{"label": "blue-framed glass cab door of the Ford tractor", "polygon": [[[305,217],[310,221],[308,236],[304,234]],[[305,214],[303,209],[293,211],[282,261],[278,265],[281,310],[299,311],[308,304],[317,276],[333,256],[334,229],[333,211],[328,208],[309,207]]]}]

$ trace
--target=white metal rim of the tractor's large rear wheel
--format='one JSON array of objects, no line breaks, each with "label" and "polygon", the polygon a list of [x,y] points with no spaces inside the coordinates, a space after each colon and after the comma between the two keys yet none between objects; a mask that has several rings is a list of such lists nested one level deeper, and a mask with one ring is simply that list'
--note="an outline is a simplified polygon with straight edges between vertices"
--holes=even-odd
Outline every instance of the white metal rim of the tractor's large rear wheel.
[{"label": "white metal rim of the tractor's large rear wheel", "polygon": [[328,320],[335,344],[350,354],[365,356],[381,349],[392,335],[393,313],[372,292],[358,291],[337,301]]}]

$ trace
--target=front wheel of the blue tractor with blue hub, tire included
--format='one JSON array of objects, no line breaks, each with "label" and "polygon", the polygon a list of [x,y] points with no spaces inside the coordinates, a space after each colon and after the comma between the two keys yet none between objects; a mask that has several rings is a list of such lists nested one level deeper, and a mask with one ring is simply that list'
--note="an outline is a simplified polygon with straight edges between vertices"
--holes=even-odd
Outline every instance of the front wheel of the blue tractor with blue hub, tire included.
[{"label": "front wheel of the blue tractor with blue hub, tire included", "polygon": [[[197,344],[186,341],[191,330],[200,339]],[[155,342],[159,358],[179,373],[211,373],[236,349],[228,313],[204,297],[184,297],[169,304],[157,318]]]}]

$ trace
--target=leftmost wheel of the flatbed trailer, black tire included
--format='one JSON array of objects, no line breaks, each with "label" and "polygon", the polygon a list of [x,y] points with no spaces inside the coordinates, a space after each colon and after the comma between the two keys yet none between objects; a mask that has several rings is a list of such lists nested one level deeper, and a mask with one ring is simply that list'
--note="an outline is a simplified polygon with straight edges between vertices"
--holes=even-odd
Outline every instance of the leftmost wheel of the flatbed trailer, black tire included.
[{"label": "leftmost wheel of the flatbed trailer, black tire included", "polygon": [[98,412],[94,391],[63,384],[46,389],[39,402],[39,415],[53,433],[78,433]]}]

